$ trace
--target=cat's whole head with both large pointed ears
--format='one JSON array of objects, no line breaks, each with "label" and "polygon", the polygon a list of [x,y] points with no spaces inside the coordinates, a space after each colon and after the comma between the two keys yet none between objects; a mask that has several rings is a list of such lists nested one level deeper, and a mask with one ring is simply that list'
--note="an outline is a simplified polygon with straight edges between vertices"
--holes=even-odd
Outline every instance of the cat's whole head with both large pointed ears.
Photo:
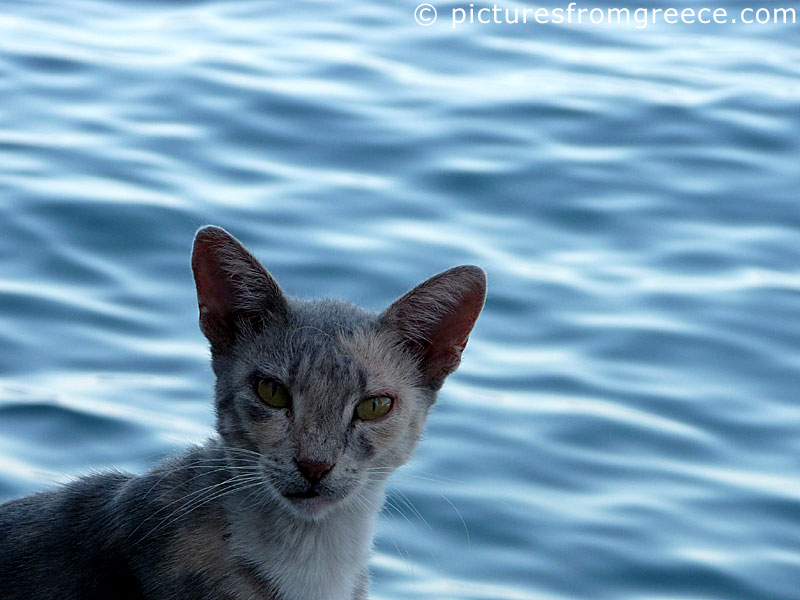
[{"label": "cat's whole head with both large pointed ears", "polygon": [[462,266],[380,314],[295,300],[218,227],[198,231],[192,270],[217,430],[243,450],[232,456],[256,457],[275,499],[308,518],[358,503],[410,458],[486,292],[483,271]]}]

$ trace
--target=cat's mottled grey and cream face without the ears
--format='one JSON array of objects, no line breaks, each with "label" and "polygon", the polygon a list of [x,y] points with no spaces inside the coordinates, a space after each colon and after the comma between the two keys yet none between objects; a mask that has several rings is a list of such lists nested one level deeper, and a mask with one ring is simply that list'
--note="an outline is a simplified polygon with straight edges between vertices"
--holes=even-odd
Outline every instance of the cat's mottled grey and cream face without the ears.
[{"label": "cat's mottled grey and cream face without the ears", "polygon": [[[362,486],[408,460],[433,392],[371,315],[330,303],[291,303],[290,311],[287,323],[266,326],[218,359],[218,429],[226,444],[261,455],[276,497],[318,514],[336,501],[357,502]],[[388,412],[364,419],[364,402],[368,417],[385,410],[381,403]],[[304,463],[330,470],[315,481]]]}]

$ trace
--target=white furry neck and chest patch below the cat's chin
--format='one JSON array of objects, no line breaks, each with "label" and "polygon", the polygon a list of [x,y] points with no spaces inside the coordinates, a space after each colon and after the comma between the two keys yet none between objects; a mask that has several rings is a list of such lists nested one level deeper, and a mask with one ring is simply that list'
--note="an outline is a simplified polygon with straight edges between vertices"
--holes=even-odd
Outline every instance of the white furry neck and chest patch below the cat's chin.
[{"label": "white furry neck and chest patch below the cat's chin", "polygon": [[361,597],[384,483],[369,484],[317,520],[299,518],[277,499],[226,502],[231,547],[271,582],[281,600]]}]

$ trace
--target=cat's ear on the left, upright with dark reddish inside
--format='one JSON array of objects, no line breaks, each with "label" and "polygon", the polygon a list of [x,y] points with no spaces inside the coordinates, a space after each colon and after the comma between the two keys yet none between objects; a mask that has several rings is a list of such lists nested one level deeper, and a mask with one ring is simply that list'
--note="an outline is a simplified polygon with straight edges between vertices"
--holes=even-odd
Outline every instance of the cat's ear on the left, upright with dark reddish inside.
[{"label": "cat's ear on the left, upright with dark reddish inside", "polygon": [[284,318],[286,298],[261,263],[231,234],[209,225],[194,238],[192,272],[200,330],[214,350],[225,350],[244,328]]}]

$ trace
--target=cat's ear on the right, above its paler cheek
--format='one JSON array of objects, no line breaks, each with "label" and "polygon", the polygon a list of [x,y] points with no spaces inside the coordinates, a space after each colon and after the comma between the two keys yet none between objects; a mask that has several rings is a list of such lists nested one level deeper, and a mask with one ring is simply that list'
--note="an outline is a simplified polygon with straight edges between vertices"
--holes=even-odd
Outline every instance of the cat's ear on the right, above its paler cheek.
[{"label": "cat's ear on the right, above its paler cheek", "polygon": [[461,362],[486,298],[486,274],[472,265],[431,277],[397,300],[380,316],[382,327],[400,334],[434,390]]}]

